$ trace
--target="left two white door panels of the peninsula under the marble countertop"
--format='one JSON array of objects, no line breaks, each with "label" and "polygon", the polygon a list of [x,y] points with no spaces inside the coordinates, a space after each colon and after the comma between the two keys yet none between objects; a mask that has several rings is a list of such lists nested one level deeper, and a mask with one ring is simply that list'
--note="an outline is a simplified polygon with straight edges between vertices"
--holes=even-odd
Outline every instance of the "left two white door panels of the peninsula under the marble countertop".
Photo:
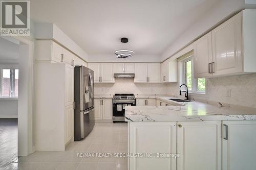
[{"label": "left two white door panels of the peninsula under the marble countertop", "polygon": [[130,154],[179,154],[130,158],[130,169],[221,170],[221,121],[129,122],[129,132]]}]

